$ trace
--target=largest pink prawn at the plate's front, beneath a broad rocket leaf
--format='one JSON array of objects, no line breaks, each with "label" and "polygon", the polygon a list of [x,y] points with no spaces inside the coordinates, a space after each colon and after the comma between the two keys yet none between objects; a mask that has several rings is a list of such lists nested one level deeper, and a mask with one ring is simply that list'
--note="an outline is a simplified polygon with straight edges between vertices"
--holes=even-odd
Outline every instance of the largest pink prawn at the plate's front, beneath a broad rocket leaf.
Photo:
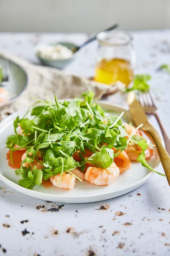
[{"label": "largest pink prawn at the plate's front, beneath a broad rocket leaf", "polygon": [[[108,171],[109,170],[109,171]],[[110,185],[119,176],[119,168],[113,162],[107,169],[89,167],[85,173],[85,180],[98,186]]]}]

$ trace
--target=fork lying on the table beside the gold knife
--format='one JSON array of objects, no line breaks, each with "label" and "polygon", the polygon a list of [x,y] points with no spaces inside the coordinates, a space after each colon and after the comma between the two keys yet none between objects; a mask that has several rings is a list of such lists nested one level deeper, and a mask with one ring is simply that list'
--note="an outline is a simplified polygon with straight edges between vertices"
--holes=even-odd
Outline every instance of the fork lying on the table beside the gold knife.
[{"label": "fork lying on the table beside the gold knife", "polygon": [[151,92],[150,91],[146,93],[138,92],[137,96],[138,96],[138,101],[141,103],[141,106],[143,107],[145,113],[148,115],[154,115],[157,122],[159,123],[161,132],[164,138],[164,142],[165,142],[165,149],[167,153],[170,155],[170,137],[166,133],[164,126],[157,114],[157,107],[155,106]]}]

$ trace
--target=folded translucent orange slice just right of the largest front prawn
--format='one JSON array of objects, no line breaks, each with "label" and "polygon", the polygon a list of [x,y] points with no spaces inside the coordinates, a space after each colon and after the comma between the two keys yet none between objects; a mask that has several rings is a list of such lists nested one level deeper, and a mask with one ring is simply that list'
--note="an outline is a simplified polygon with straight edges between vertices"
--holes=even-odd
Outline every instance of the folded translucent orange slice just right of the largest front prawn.
[{"label": "folded translucent orange slice just right of the largest front prawn", "polygon": [[125,151],[122,151],[118,156],[114,158],[114,163],[119,168],[120,173],[132,167],[131,160],[129,159]]}]

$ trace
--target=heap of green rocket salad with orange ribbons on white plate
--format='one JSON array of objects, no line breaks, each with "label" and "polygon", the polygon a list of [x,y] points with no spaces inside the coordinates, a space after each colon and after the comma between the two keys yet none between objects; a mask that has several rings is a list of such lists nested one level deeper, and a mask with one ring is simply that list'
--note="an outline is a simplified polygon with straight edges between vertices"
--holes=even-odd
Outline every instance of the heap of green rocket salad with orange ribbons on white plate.
[{"label": "heap of green rocket salad with orange ribbons on white plate", "polygon": [[[28,114],[31,118],[27,117]],[[42,180],[59,177],[58,187],[62,187],[62,176],[67,178],[66,174],[82,181],[81,175],[74,173],[75,169],[82,173],[82,177],[86,176],[88,168],[92,171],[94,167],[99,171],[104,169],[110,175],[110,166],[128,145],[135,149],[140,147],[136,160],[154,171],[145,159],[148,148],[146,139],[137,134],[137,129],[129,135],[121,116],[105,114],[95,103],[91,91],[71,101],[59,102],[56,96],[55,103],[38,100],[27,115],[21,119],[17,116],[14,120],[15,135],[9,136],[6,141],[9,165],[16,168],[15,160],[20,159],[15,170],[16,175],[21,177],[20,186],[33,189]],[[17,153],[20,156],[16,156]],[[76,154],[78,157],[75,157]],[[21,156],[24,156],[22,161]],[[121,165],[119,162],[115,161],[115,165]]]}]

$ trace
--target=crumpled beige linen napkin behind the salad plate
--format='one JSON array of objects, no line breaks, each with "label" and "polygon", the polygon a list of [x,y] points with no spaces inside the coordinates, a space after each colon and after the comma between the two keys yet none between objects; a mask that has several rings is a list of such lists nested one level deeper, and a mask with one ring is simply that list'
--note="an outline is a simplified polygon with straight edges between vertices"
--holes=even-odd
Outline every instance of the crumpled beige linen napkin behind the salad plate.
[{"label": "crumpled beige linen napkin behind the salad plate", "polygon": [[33,97],[54,100],[54,94],[58,99],[74,98],[80,96],[86,90],[94,91],[95,97],[101,98],[104,94],[117,92],[121,84],[114,86],[97,83],[75,75],[67,75],[63,71],[52,67],[34,65],[10,53],[0,53],[0,57],[9,59],[21,66],[27,73],[28,86],[16,102],[5,109],[0,110],[0,120],[9,113],[27,108],[35,100]]}]

